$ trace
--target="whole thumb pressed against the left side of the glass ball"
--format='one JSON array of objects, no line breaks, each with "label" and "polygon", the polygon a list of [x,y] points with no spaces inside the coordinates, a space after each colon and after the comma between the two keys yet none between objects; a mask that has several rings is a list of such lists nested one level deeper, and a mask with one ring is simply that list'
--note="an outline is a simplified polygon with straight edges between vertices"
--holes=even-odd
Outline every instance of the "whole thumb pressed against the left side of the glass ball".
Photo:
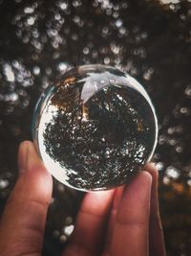
[{"label": "whole thumb pressed against the left side of the glass ball", "polygon": [[53,179],[32,142],[20,145],[18,164],[20,175],[0,222],[1,256],[37,256],[41,254]]}]

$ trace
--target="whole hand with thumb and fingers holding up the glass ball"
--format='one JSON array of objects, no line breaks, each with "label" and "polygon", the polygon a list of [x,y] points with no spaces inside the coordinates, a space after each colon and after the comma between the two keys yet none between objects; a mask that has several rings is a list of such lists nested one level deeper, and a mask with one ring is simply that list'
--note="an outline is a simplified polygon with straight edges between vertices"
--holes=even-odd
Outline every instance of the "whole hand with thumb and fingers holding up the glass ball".
[{"label": "whole hand with thumb and fingers holding up the glass ball", "polygon": [[[21,144],[19,177],[0,222],[1,256],[41,255],[53,179],[31,142]],[[87,193],[63,256],[164,256],[158,173],[146,167],[126,187]]]}]

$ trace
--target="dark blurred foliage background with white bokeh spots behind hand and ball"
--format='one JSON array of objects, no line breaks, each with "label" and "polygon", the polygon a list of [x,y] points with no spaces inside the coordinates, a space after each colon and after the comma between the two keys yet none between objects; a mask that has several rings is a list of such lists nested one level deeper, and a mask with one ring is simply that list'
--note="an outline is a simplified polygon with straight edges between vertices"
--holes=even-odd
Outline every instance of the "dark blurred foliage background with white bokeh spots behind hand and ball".
[{"label": "dark blurred foliage background with white bokeh spots behind hand and ball", "polygon": [[[39,95],[88,63],[128,72],[151,96],[167,252],[191,255],[190,0],[0,0],[0,214],[17,176],[18,145],[32,139]],[[60,255],[82,197],[54,181],[43,255]]]}]

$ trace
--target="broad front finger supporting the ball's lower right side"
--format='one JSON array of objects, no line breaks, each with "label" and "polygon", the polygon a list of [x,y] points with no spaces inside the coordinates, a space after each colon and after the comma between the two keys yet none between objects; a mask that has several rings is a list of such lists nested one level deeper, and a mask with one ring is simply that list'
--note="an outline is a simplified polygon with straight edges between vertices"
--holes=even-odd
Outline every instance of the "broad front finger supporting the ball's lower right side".
[{"label": "broad front finger supporting the ball's lower right side", "polygon": [[112,255],[148,255],[151,183],[152,176],[141,172],[127,185],[118,208]]}]

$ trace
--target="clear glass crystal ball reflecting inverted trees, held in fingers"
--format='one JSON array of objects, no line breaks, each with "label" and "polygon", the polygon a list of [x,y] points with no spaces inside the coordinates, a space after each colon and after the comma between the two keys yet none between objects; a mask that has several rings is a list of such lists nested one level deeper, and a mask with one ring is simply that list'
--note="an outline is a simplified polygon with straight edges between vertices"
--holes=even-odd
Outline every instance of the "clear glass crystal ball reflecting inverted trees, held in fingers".
[{"label": "clear glass crystal ball reflecting inverted trees, held in fingers", "polygon": [[77,190],[96,191],[138,174],[155,150],[158,125],[138,81],[114,67],[83,65],[41,95],[32,135],[56,179]]}]

